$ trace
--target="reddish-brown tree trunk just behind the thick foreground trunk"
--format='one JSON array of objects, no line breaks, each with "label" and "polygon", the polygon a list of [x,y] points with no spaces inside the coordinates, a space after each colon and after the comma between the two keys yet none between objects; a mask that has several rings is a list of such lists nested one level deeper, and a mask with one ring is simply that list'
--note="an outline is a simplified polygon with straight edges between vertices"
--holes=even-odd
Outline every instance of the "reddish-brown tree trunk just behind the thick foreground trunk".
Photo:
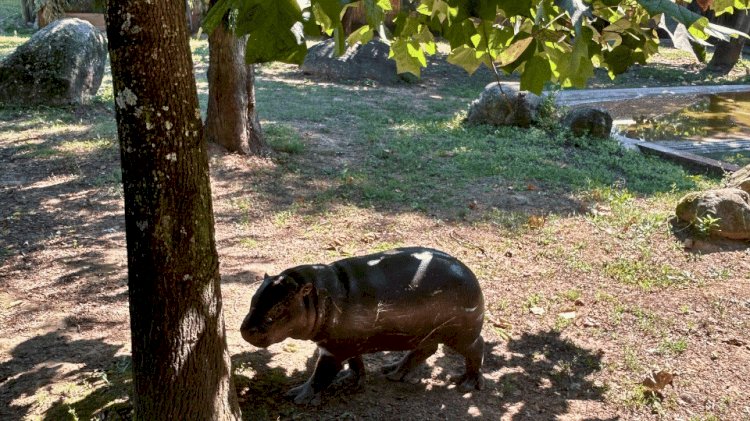
[{"label": "reddish-brown tree trunk just behind the thick foreground trunk", "polygon": [[206,139],[229,151],[261,155],[266,151],[255,110],[253,65],[245,63],[247,37],[219,25],[208,37],[208,112]]}]

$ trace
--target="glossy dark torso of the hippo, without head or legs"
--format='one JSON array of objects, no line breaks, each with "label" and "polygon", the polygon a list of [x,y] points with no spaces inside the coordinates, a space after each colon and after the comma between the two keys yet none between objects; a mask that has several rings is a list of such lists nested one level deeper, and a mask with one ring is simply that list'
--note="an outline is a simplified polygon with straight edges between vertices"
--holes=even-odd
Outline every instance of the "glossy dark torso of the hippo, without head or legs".
[{"label": "glossy dark torso of the hippo, without head or legs", "polygon": [[340,285],[333,336],[357,342],[361,350],[410,349],[427,337],[445,343],[479,335],[484,314],[479,283],[444,252],[400,248],[330,267]]}]

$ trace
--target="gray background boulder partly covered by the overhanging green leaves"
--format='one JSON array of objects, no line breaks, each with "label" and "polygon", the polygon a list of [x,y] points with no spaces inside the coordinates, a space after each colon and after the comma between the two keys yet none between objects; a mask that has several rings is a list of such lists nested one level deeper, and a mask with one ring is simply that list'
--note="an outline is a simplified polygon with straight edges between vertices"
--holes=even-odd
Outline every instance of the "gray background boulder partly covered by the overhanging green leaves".
[{"label": "gray background boulder partly covered by the overhanging green leaves", "polygon": [[396,62],[388,58],[390,47],[379,39],[349,47],[336,55],[334,40],[327,39],[307,51],[302,71],[328,80],[371,79],[394,83],[402,79],[396,73]]}]

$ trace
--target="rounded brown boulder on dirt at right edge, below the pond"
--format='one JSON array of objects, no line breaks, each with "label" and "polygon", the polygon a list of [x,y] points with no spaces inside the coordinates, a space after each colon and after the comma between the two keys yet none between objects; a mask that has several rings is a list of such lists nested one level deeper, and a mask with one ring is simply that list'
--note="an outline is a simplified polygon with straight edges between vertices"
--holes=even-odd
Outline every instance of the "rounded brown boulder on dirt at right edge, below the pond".
[{"label": "rounded brown boulder on dirt at right edge, below the pond", "polygon": [[732,240],[750,239],[750,194],[740,189],[725,188],[690,193],[680,199],[677,217],[699,225],[699,218],[718,218],[711,234]]}]

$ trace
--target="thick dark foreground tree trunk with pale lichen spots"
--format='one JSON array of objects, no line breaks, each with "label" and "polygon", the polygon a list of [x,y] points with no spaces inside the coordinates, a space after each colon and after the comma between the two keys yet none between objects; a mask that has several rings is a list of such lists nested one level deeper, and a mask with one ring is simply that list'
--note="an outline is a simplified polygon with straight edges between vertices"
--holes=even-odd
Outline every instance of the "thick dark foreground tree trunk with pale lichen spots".
[{"label": "thick dark foreground tree trunk with pale lichen spots", "polygon": [[184,0],[109,1],[139,420],[240,418]]}]

